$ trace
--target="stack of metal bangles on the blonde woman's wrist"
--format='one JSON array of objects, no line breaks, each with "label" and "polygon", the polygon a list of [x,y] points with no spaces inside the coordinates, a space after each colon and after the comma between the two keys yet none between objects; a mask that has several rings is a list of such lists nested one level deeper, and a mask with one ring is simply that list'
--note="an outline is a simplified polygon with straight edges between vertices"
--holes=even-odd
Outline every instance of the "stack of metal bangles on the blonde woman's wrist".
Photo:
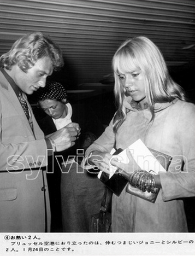
[{"label": "stack of metal bangles on the blonde woman's wrist", "polygon": [[157,193],[155,178],[153,174],[144,170],[137,170],[130,174],[129,183],[140,189],[141,191],[151,192],[152,194]]}]

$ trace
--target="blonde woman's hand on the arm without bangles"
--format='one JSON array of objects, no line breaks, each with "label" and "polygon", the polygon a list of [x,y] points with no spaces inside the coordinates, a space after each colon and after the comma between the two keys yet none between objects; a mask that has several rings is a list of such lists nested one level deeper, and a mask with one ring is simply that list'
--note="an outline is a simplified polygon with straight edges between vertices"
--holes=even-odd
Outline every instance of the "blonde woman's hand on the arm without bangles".
[{"label": "blonde woman's hand on the arm without bangles", "polygon": [[93,151],[87,159],[87,164],[96,165],[99,170],[109,173],[111,157],[112,155],[108,152]]}]

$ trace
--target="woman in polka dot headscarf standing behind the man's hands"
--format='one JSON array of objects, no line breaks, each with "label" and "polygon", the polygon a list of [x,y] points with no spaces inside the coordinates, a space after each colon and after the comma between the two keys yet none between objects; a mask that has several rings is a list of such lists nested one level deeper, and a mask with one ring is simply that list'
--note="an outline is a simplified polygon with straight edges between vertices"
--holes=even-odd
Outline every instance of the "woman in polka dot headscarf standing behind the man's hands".
[{"label": "woman in polka dot headscarf standing behind the man's hands", "polygon": [[[39,106],[47,114],[37,120],[45,136],[71,123],[72,119],[81,127],[81,135],[75,146],[60,153],[58,159],[64,161],[63,167],[58,164],[56,157],[49,156],[48,159],[51,231],[89,232],[91,215],[98,212],[101,206],[104,185],[96,175],[84,171],[73,156],[77,156],[78,149],[84,152],[103,132],[103,126],[94,119],[94,113],[90,114],[90,108],[84,108],[82,104],[70,104],[67,92],[60,83],[47,82],[44,88],[36,92],[36,96]],[[100,126],[102,129],[97,132]]]}]

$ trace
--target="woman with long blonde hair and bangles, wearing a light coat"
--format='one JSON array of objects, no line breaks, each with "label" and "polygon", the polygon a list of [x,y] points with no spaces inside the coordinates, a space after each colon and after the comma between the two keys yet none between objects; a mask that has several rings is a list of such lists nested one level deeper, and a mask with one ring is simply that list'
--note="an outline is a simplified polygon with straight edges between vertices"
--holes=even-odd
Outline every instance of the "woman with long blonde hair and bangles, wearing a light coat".
[{"label": "woman with long blonde hair and bangles, wearing a light coat", "polygon": [[[195,195],[194,104],[168,73],[158,47],[146,37],[126,40],[113,57],[117,111],[107,129],[86,151],[84,165],[109,172],[110,164],[127,179],[113,194],[113,232],[188,232],[183,197]],[[172,157],[165,172],[141,170],[127,150],[128,164],[111,149],[141,139],[147,148]],[[129,193],[159,191],[155,203]]]}]

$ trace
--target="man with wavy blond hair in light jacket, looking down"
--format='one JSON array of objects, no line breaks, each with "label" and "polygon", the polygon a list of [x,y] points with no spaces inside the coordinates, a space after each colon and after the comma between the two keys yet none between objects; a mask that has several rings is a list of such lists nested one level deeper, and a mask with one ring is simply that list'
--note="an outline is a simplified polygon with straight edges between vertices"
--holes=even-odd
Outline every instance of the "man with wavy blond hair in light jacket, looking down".
[{"label": "man with wavy blond hair in light jacket, looking down", "polygon": [[40,32],[19,38],[0,62],[0,232],[50,231],[47,156],[74,145],[78,124],[47,138],[26,94],[63,66],[58,45]]}]

